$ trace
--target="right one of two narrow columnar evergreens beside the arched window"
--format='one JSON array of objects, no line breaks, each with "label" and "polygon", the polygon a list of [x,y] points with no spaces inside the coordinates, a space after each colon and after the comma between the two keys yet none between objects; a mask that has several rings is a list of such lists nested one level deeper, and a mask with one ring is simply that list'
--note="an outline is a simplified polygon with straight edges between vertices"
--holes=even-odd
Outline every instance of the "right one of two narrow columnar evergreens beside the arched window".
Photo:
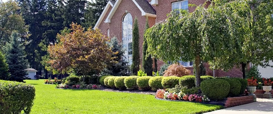
[{"label": "right one of two narrow columnar evergreens beside the arched window", "polygon": [[[148,18],[146,19],[146,25],[145,25],[145,30],[144,30],[144,34],[146,32],[146,30],[150,28],[149,27],[149,24],[148,24]],[[142,66],[144,68],[144,71],[145,73],[147,73],[147,76],[152,76],[152,72],[153,72],[153,62],[152,62],[152,58],[151,58],[151,55],[149,55],[147,58],[146,58],[146,53],[147,53],[147,48],[148,48],[148,45],[147,45],[147,42],[146,42],[146,39],[143,35],[143,56],[142,56]]]}]

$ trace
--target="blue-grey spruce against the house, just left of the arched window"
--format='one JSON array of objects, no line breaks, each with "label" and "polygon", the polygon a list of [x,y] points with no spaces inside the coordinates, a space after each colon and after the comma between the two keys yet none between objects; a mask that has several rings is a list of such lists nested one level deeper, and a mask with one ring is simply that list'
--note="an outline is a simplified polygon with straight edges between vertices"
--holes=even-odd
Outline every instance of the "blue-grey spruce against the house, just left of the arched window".
[{"label": "blue-grey spruce against the house, just left of the arched window", "polygon": [[112,75],[112,76],[126,76],[128,75],[129,66],[128,62],[122,59],[125,51],[122,49],[122,45],[118,43],[118,39],[113,37],[111,41],[108,43],[109,47],[111,47],[114,54],[112,54],[112,58],[116,63],[112,63],[109,65],[104,71],[104,74]]}]

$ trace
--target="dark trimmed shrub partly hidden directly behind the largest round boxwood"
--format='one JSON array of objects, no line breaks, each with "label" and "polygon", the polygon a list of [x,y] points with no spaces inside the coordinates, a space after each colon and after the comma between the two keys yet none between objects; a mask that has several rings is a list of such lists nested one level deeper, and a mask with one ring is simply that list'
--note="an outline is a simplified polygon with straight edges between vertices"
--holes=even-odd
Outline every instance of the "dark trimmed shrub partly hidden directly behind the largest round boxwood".
[{"label": "dark trimmed shrub partly hidden directly behind the largest round boxwood", "polygon": [[229,93],[228,95],[230,96],[238,96],[241,91],[241,83],[234,79],[234,78],[216,78],[216,79],[221,79],[221,80],[226,80],[228,81],[230,85]]}]

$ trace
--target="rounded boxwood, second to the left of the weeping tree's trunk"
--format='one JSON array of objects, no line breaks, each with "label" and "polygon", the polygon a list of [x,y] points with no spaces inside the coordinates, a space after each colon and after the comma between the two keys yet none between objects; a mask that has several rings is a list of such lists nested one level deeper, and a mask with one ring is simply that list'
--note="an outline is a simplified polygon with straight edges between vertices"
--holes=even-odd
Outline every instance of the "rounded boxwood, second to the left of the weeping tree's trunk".
[{"label": "rounded boxwood, second to the left of the weeping tree's trunk", "polygon": [[179,77],[177,76],[168,76],[164,77],[161,81],[163,88],[173,88],[175,85],[179,84]]}]

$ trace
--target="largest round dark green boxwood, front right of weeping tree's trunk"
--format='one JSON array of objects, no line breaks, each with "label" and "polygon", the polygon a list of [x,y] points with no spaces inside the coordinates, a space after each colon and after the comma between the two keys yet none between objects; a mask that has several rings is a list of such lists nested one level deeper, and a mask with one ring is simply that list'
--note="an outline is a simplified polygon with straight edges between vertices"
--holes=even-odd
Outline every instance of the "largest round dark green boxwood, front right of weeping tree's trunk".
[{"label": "largest round dark green boxwood, front right of weeping tree's trunk", "polygon": [[230,84],[226,80],[208,79],[201,82],[203,95],[212,100],[222,100],[228,96]]}]

